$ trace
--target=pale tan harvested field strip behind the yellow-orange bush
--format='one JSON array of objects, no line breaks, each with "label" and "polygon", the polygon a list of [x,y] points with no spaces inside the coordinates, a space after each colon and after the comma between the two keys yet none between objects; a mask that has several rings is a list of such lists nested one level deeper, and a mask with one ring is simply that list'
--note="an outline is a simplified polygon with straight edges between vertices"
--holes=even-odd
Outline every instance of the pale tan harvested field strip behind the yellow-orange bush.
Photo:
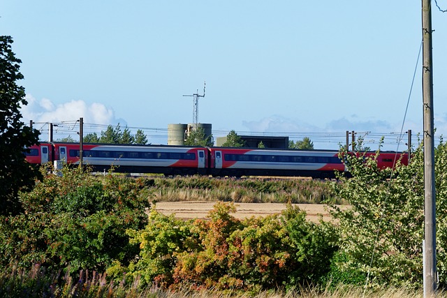
[{"label": "pale tan harvested field strip behind the yellow-orange bush", "polygon": [[[157,202],[156,210],[161,214],[175,214],[177,218],[205,218],[207,213],[212,210],[216,202]],[[293,204],[307,212],[309,221],[318,222],[319,216],[323,216],[323,221],[330,221],[330,214],[327,205],[323,204]],[[250,216],[266,216],[269,214],[280,213],[286,209],[286,204],[281,203],[235,203],[237,211],[235,218],[247,218]]]}]

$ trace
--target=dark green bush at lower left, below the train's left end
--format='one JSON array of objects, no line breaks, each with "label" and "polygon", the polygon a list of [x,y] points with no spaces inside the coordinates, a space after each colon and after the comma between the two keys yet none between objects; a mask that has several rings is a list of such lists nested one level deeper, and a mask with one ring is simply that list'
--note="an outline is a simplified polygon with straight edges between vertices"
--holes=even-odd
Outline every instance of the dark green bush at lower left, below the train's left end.
[{"label": "dark green bush at lower left, below the train's left end", "polygon": [[94,177],[80,168],[63,176],[46,174],[20,200],[24,214],[0,218],[0,264],[71,271],[104,271],[117,260],[129,264],[138,246],[126,230],[147,223],[145,183],[108,175]]}]

